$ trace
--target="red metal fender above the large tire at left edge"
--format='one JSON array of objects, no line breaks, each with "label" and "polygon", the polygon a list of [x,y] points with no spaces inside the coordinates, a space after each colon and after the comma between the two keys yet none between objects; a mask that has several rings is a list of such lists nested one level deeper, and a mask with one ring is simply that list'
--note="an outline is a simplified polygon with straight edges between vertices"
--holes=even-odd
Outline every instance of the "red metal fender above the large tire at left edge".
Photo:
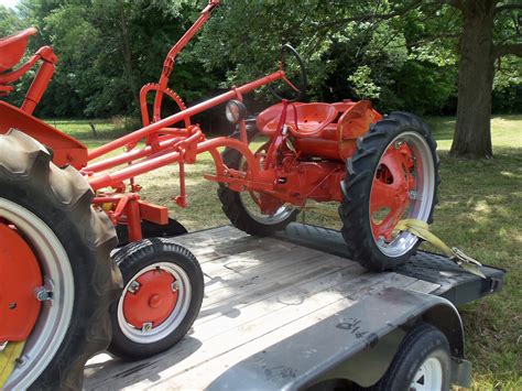
[{"label": "red metal fender above the large tire at left edge", "polygon": [[79,170],[87,164],[87,146],[78,140],[0,100],[0,134],[18,129],[53,151],[53,163]]}]

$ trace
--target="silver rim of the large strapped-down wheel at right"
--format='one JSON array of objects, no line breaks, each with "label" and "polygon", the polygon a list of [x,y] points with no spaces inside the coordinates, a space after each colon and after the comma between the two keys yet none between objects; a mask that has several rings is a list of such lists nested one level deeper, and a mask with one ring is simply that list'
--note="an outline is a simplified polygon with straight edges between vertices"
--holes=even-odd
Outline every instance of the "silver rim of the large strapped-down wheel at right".
[{"label": "silver rim of the large strapped-down wheel at right", "polygon": [[[407,145],[407,148],[404,145]],[[418,240],[416,236],[405,231],[400,232],[392,238],[376,237],[377,224],[371,210],[371,207],[379,203],[376,203],[374,199],[376,194],[379,194],[379,187],[378,184],[376,184],[376,176],[378,175],[378,170],[382,167],[382,162],[387,159],[387,154],[395,153],[391,151],[396,149],[405,150],[405,155],[411,153],[413,159],[413,173],[412,177],[410,177],[410,182],[405,184],[401,191],[394,192],[395,197],[399,199],[394,200],[394,205],[392,206],[391,210],[394,210],[393,208],[404,208],[405,210],[402,214],[398,214],[398,216],[393,216],[393,227],[400,219],[404,218],[427,221],[432,211],[435,194],[435,164],[432,159],[432,151],[427,141],[422,134],[414,131],[406,131],[399,134],[388,144],[385,152],[382,154],[376,172],[373,173],[373,183],[370,191],[369,218],[373,233],[372,237],[379,250],[383,254],[392,258],[405,254],[416,245]],[[401,177],[403,173],[400,173],[399,171],[400,170],[398,169],[392,170],[392,175],[398,178]],[[407,180],[405,182],[407,182]],[[405,196],[407,197],[407,200],[404,200]]]}]

